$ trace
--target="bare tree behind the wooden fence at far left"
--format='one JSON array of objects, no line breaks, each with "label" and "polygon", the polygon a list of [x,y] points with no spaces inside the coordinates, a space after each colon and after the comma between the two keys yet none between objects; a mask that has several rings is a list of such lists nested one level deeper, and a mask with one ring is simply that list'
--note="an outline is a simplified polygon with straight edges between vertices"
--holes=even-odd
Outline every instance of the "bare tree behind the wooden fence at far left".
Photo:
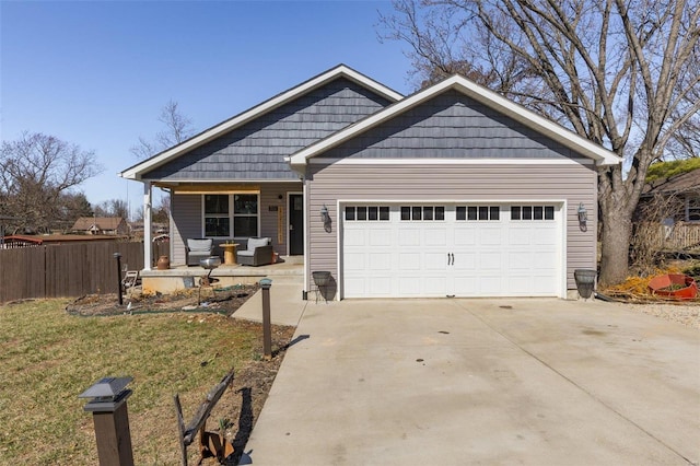
[{"label": "bare tree behind the wooden fence at far left", "polygon": [[40,132],[3,141],[0,150],[0,214],[19,218],[14,231],[50,232],[60,218],[62,197],[97,175],[94,152]]}]

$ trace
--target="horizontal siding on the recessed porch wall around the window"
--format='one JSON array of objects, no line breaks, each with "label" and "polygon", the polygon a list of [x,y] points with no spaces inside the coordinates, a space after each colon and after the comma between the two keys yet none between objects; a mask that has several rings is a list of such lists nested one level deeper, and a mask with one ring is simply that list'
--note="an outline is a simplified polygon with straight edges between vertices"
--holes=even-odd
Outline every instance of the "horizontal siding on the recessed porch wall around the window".
[{"label": "horizontal siding on the recessed porch wall around the window", "polygon": [[[301,193],[302,184],[300,182],[291,183],[269,183],[260,187],[260,236],[268,236],[272,240],[275,252],[280,255],[287,255],[288,240],[288,219],[287,219],[287,194]],[[214,193],[212,193],[214,194]],[[185,244],[188,237],[202,236],[202,196],[203,195],[184,195],[174,194],[172,199],[172,223],[171,223],[171,264],[185,264]],[[282,197],[280,199],[280,196]],[[270,210],[276,207],[276,210]],[[279,211],[281,210],[281,219]],[[281,221],[281,223],[278,223]],[[281,230],[280,230],[281,229]],[[282,234],[282,241],[279,241],[279,234]],[[228,240],[215,240],[214,245],[224,243]],[[245,247],[245,240],[236,238],[241,243],[241,247]],[[221,255],[221,249],[214,247],[213,254]]]}]

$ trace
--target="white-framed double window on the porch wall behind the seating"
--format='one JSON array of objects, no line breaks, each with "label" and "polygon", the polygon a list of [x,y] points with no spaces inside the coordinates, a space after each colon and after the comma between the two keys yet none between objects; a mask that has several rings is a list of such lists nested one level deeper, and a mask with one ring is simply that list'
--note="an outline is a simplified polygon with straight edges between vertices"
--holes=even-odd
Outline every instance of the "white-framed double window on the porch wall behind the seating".
[{"label": "white-framed double window on the porch wall behind the seating", "polygon": [[258,236],[258,195],[205,195],[206,237]]}]

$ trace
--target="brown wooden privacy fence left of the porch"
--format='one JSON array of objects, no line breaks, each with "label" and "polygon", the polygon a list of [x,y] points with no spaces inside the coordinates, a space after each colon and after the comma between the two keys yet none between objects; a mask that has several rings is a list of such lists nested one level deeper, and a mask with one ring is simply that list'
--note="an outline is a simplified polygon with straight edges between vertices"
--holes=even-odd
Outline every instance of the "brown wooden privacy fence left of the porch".
[{"label": "brown wooden privacy fence left of the porch", "polygon": [[27,298],[116,293],[117,263],[143,268],[142,243],[81,243],[0,249],[0,303]]}]

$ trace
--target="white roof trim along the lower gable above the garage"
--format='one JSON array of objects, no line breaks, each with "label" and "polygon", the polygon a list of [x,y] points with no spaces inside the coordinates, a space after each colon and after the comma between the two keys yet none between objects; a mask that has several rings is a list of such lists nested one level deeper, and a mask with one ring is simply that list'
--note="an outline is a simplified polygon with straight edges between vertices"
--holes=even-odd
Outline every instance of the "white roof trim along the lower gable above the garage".
[{"label": "white roof trim along the lower gable above the garage", "polygon": [[596,165],[616,165],[622,161],[621,158],[602,145],[593,143],[575,132],[572,132],[564,127],[528,110],[522,105],[509,101],[495,92],[478,85],[460,75],[447,78],[446,80],[423,91],[417,92],[416,94],[406,97],[402,101],[399,101],[398,103],[347,127],[346,129],[335,132],[334,135],[292,154],[289,158],[289,161],[292,166],[303,166],[307,163],[308,159],[347,141],[354,136],[401,114],[402,112],[416,107],[448,89],[455,89],[475,101],[499,110],[516,121],[520,121],[523,125],[550,137],[555,141],[575,150],[582,155],[593,159]]}]

